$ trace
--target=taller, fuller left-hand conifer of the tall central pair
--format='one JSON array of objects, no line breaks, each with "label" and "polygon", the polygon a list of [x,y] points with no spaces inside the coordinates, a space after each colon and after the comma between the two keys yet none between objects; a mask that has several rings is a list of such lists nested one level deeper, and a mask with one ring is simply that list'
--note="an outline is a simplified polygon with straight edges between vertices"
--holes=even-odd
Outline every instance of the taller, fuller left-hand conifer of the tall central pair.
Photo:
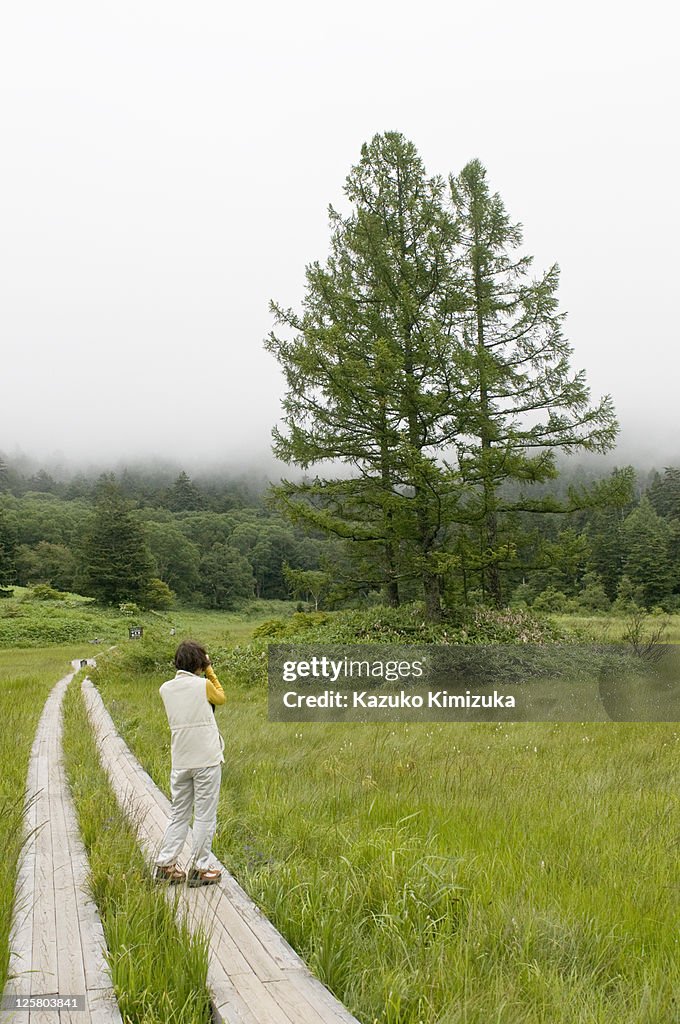
[{"label": "taller, fuller left-hand conifer of the tall central pair", "polygon": [[401,581],[417,577],[436,617],[457,493],[440,458],[456,387],[445,186],[388,132],[364,145],[344,190],[349,212],[330,210],[331,254],[306,269],[302,312],[272,304],[287,330],[267,347],[287,383],[275,454],[303,469],[346,468],[278,495],[294,520],[359,547],[358,586],[380,584],[396,604]]}]

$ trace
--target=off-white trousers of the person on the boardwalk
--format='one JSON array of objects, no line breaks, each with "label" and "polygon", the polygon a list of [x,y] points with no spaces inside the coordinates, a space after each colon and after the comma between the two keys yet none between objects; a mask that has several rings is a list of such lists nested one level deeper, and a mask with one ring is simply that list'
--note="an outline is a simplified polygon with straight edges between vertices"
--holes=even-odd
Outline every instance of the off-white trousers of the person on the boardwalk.
[{"label": "off-white trousers of the person on the boardwalk", "polygon": [[210,867],[211,846],[217,826],[217,801],[222,766],[182,768],[170,772],[172,810],[156,863],[174,864],[186,840],[194,810],[192,863],[199,870]]}]

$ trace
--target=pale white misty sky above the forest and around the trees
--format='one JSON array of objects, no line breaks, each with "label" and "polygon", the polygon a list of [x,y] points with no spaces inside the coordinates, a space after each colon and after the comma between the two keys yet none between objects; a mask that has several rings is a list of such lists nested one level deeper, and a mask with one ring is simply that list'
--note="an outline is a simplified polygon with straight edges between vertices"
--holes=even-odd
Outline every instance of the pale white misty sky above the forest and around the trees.
[{"label": "pale white misty sky above the forest and around the trees", "polygon": [[0,451],[269,457],[360,145],[486,166],[624,442],[680,455],[672,5],[23,0],[0,18]]}]

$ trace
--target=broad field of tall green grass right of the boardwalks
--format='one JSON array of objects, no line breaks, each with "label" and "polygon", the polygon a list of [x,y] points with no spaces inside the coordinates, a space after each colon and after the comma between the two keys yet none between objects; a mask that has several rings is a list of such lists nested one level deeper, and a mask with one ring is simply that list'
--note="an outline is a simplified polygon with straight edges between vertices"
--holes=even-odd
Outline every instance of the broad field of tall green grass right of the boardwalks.
[{"label": "broad field of tall green grass right of the boardwalks", "polygon": [[[162,681],[97,673],[167,792]],[[359,1020],[678,1019],[677,725],[269,723],[222,683],[216,853]]]}]

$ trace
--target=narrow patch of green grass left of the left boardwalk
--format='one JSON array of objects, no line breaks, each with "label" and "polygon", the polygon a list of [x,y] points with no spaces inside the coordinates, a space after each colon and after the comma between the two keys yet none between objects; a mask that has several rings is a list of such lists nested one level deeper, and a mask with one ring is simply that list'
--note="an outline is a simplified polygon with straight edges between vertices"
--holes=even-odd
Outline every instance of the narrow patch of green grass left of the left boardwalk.
[{"label": "narrow patch of green grass left of the left boardwalk", "polygon": [[29,755],[47,694],[76,654],[70,647],[0,650],[0,990],[7,980],[16,864],[25,841]]}]

